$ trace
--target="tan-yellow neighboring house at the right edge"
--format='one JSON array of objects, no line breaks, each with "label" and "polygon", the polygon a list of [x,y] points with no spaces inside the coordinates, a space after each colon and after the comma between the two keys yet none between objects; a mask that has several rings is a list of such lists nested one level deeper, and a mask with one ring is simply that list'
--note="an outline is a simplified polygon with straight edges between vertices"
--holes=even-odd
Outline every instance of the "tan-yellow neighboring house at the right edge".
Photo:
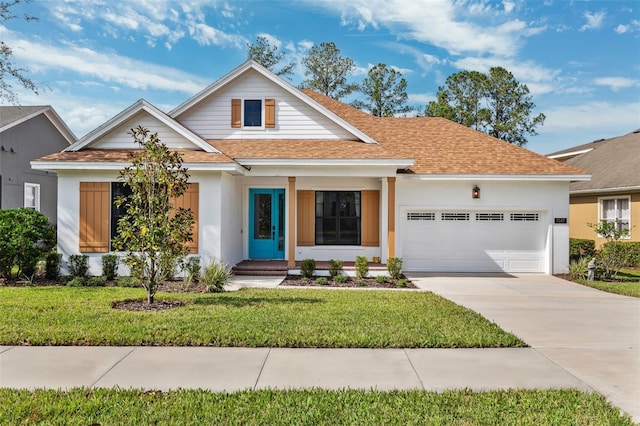
[{"label": "tan-yellow neighboring house at the right edge", "polygon": [[549,154],[550,158],[586,170],[591,181],[569,186],[569,235],[572,238],[606,240],[589,224],[617,221],[630,232],[629,241],[640,241],[640,129],[624,136]]}]

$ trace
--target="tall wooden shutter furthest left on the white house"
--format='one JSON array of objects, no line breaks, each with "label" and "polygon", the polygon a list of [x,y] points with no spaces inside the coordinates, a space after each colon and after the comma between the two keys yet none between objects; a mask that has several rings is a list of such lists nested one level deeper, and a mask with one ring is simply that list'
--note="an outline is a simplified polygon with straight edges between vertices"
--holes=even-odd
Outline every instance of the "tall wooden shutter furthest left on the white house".
[{"label": "tall wooden shutter furthest left on the white house", "polygon": [[109,251],[109,182],[80,182],[80,253]]}]

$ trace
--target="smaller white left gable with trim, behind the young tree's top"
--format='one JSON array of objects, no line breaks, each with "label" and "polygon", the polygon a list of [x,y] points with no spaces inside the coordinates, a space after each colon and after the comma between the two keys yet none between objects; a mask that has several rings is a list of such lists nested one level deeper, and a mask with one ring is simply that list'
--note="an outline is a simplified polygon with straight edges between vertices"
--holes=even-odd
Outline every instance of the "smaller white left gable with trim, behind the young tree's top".
[{"label": "smaller white left gable with trim, behind the young tree's top", "polygon": [[78,151],[84,148],[121,149],[132,148],[126,142],[132,143],[127,132],[138,125],[158,132],[160,140],[170,148],[175,149],[198,149],[205,152],[218,152],[199,136],[189,129],[164,114],[162,111],[141,99],[88,133],[65,151]]}]

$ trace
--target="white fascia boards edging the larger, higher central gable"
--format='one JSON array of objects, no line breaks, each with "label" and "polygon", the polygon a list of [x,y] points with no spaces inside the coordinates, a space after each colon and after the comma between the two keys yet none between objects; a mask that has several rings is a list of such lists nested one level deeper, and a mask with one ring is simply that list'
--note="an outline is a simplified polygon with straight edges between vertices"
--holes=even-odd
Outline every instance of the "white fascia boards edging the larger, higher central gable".
[{"label": "white fascia boards edging the larger, higher central gable", "polygon": [[263,67],[262,65],[258,64],[257,62],[255,62],[253,60],[248,60],[248,61],[244,62],[242,65],[240,65],[237,68],[235,68],[234,70],[232,70],[231,72],[225,74],[218,81],[216,81],[215,83],[207,86],[206,88],[201,90],[199,93],[197,93],[196,95],[194,95],[193,97],[191,97],[187,101],[183,102],[182,104],[178,105],[176,108],[171,110],[169,112],[169,115],[172,118],[178,117],[180,114],[184,113],[186,110],[188,110],[189,108],[193,107],[194,105],[197,105],[203,99],[207,98],[212,93],[218,91],[220,88],[226,86],[227,84],[229,84],[229,82],[235,80],[237,77],[239,77],[240,75],[244,74],[249,69],[253,69],[253,70],[259,72],[266,79],[268,79],[268,80],[272,81],[274,84],[280,86],[282,89],[284,89],[287,92],[289,92],[292,96],[295,96],[300,101],[302,101],[305,104],[309,105],[314,110],[316,110],[320,114],[324,115],[329,120],[333,121],[335,124],[337,124],[338,126],[342,127],[344,130],[346,130],[347,132],[349,132],[352,135],[356,136],[358,139],[362,140],[363,142],[365,142],[365,143],[373,143],[373,144],[377,144],[378,143],[373,138],[371,138],[370,136],[368,136],[365,133],[363,133],[362,131],[360,131],[358,128],[352,126],[347,121],[345,121],[342,118],[338,117],[336,114],[334,114],[333,112],[329,111],[328,109],[326,109],[325,107],[323,107],[322,105],[320,105],[319,103],[317,103],[316,101],[314,101],[313,99],[311,99],[310,97],[308,97],[307,95],[302,93],[302,91],[300,89],[298,89],[297,87],[295,87],[291,83],[289,83],[289,82],[285,81],[284,79],[278,77],[277,75],[275,75],[274,73],[272,73],[271,71],[269,71],[268,69],[266,69],[265,67]]}]

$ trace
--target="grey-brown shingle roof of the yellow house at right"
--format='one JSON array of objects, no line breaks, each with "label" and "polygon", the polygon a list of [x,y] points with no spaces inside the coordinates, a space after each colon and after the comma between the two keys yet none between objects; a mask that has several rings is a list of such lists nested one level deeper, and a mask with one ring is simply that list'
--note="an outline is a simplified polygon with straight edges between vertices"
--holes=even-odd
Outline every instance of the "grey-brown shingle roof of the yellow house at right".
[{"label": "grey-brown shingle roof of the yellow house at right", "polygon": [[591,174],[591,181],[572,183],[571,191],[639,187],[640,131],[597,142],[566,163]]}]

